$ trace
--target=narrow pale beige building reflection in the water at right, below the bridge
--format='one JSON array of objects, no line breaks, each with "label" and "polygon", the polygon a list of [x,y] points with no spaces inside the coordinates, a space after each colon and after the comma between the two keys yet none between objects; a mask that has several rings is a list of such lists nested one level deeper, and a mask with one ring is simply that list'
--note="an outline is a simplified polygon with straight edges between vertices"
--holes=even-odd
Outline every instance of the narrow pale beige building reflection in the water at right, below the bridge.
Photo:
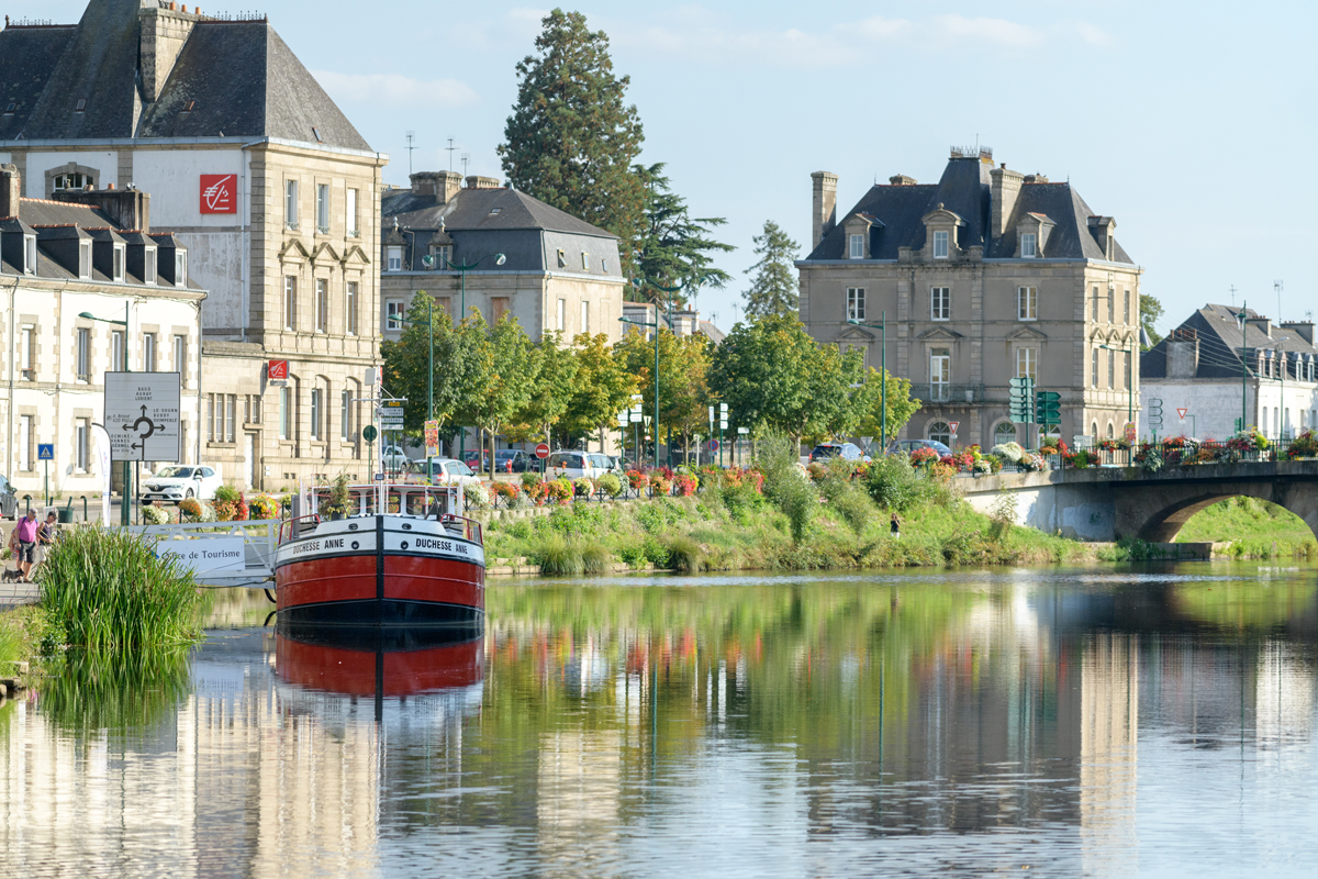
[{"label": "narrow pale beige building reflection in the water at right, below the bridge", "polygon": [[[1097,633],[1085,639],[1079,676],[1079,828],[1086,872],[1132,875],[1139,737],[1139,639]],[[1090,861],[1102,853],[1101,861]],[[1128,862],[1115,863],[1114,855]]]}]

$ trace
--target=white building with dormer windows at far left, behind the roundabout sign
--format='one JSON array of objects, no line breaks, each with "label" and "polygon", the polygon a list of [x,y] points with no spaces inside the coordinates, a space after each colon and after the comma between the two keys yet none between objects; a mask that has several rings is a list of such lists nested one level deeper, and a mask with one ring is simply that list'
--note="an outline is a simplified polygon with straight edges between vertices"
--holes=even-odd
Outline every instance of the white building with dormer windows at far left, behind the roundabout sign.
[{"label": "white building with dormer windows at far left, behind the roundabout sign", "polygon": [[[20,498],[45,493],[38,445],[54,444],[50,490],[99,497],[92,424],[105,418],[105,373],[177,372],[181,445],[195,457],[203,376],[203,291],[178,237],[150,228],[141,191],[62,192],[21,198],[13,165],[0,165],[0,460]],[[128,327],[123,322],[128,306]],[[103,320],[82,318],[83,312]],[[121,469],[113,468],[115,485]]]}]

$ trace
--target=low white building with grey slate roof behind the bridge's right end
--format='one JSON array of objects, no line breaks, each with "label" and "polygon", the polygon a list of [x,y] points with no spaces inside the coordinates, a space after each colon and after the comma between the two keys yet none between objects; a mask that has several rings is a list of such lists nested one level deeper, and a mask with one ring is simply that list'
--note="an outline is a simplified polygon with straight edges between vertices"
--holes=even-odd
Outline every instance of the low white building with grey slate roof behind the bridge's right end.
[{"label": "low white building with grey slate roof behind the bridge's right end", "polygon": [[1226,439],[1244,418],[1269,439],[1294,438],[1318,427],[1314,324],[1206,304],[1140,356],[1140,398],[1161,401],[1160,436]]}]

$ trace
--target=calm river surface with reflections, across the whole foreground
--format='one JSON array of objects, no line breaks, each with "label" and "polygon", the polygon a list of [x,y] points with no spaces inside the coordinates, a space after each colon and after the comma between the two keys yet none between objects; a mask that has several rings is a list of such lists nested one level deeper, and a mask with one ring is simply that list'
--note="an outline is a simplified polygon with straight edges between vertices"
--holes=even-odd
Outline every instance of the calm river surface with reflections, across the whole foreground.
[{"label": "calm river surface with reflections, across the whole foreground", "polygon": [[1313,875],[1318,568],[496,582],[465,643],[214,594],[0,714],[0,874]]}]

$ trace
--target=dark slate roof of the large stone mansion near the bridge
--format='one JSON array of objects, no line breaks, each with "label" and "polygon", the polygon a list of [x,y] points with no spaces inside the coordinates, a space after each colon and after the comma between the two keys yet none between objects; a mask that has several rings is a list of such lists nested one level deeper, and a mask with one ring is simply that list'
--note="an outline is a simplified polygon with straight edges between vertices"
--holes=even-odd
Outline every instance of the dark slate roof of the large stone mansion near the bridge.
[{"label": "dark slate roof of the large stone mansion near the bridge", "polygon": [[[1070,183],[1021,183],[1006,233],[1002,237],[992,237],[990,170],[991,166],[978,157],[954,157],[948,161],[937,183],[875,184],[846,216],[838,219],[807,260],[846,258],[844,223],[851,216],[866,215],[873,223],[870,257],[895,261],[898,248],[919,250],[924,246],[923,217],[940,203],[966,223],[957,232],[958,245],[962,249],[982,246],[986,260],[1015,257],[1016,224],[1027,215],[1046,215],[1056,224],[1048,236],[1044,258],[1107,260],[1098,239],[1090,232],[1089,219],[1095,213]],[[1112,256],[1115,262],[1133,265],[1133,260],[1120,244],[1114,245]]]}]

